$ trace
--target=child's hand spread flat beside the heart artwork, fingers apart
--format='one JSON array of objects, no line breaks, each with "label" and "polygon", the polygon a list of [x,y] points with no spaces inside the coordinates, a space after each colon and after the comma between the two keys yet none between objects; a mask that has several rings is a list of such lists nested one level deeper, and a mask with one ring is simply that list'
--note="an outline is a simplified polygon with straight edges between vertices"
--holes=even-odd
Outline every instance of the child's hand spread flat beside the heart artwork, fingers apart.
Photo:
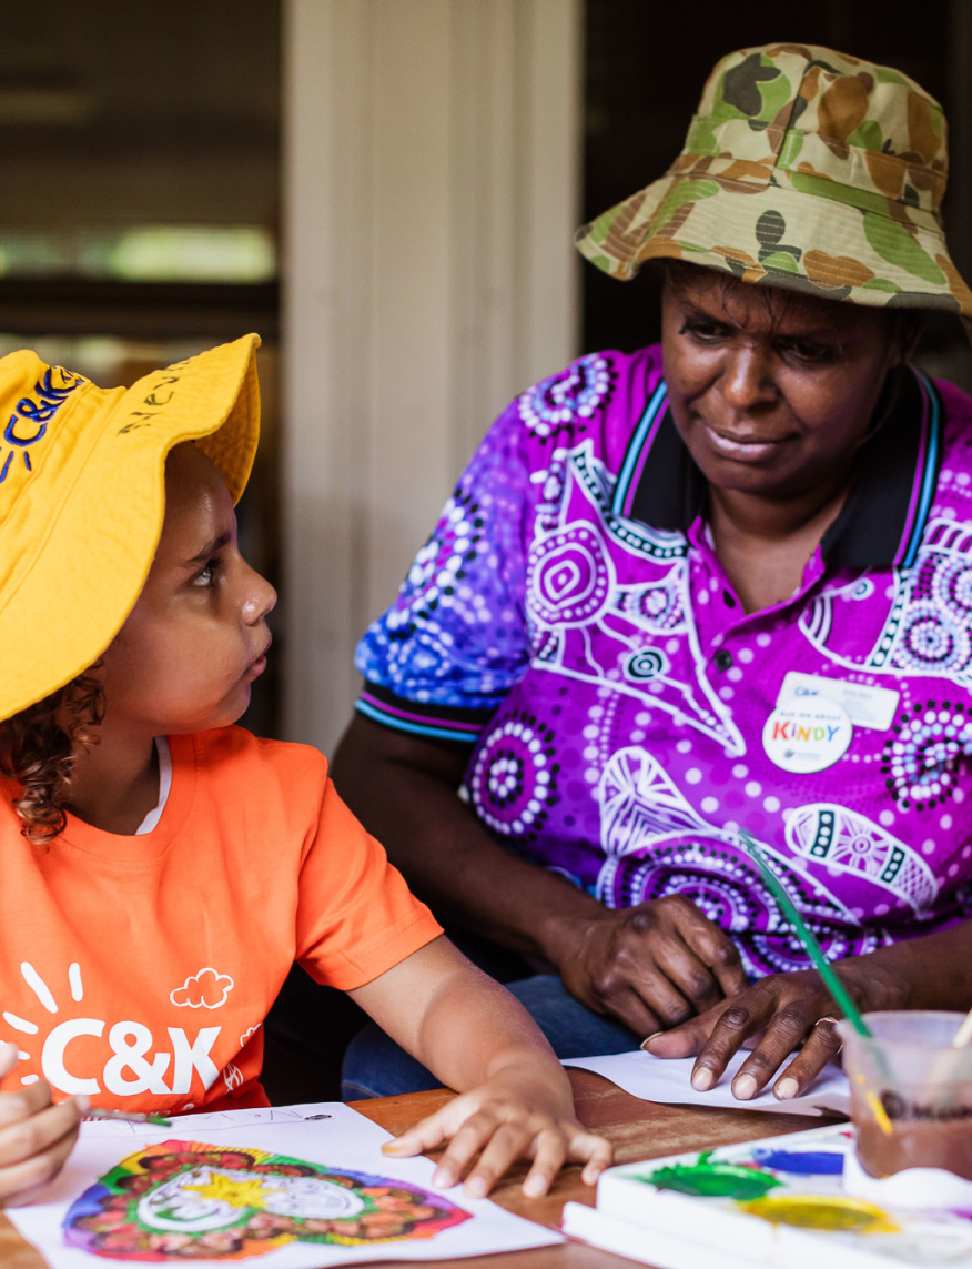
[{"label": "child's hand spread flat beside the heart artwork, fingers apart", "polygon": [[[468,1169],[463,1188],[471,1198],[489,1194],[522,1157],[533,1160],[523,1183],[523,1193],[532,1198],[547,1193],[566,1160],[584,1162],[581,1180],[593,1185],[612,1161],[612,1145],[577,1123],[570,1095],[565,1104],[549,1072],[544,1075],[500,1071],[382,1150],[387,1155],[420,1155],[448,1141],[433,1183],[448,1188]],[[470,1169],[477,1154],[478,1162]]]}]

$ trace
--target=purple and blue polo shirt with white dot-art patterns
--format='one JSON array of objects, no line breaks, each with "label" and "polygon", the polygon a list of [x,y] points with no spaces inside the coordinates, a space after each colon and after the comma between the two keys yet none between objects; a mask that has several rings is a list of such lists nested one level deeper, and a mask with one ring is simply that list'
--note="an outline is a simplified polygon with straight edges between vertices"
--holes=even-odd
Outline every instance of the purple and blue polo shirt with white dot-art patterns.
[{"label": "purple and blue polo shirt with white dot-art patterns", "polygon": [[[972,910],[969,421],[972,398],[909,369],[798,591],[746,615],[660,348],[582,357],[489,431],[359,645],[358,708],[467,741],[497,840],[610,907],[688,896],[754,975],[807,962],[740,827],[831,958],[954,923]],[[822,770],[764,747],[789,671],[883,700]]]}]

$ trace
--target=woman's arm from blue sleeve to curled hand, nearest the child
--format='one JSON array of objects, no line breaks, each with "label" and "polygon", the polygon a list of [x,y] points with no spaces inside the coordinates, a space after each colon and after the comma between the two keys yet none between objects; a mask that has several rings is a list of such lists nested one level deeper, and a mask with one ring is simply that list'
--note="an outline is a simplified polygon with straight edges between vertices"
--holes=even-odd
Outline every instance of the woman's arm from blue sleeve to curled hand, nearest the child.
[{"label": "woman's arm from blue sleeve to curled hand, nearest the child", "polygon": [[636,1036],[746,986],[732,939],[679,895],[612,911],[492,839],[456,792],[468,745],[357,714],[331,774],[409,884],[444,921],[557,967],[581,1004]]}]

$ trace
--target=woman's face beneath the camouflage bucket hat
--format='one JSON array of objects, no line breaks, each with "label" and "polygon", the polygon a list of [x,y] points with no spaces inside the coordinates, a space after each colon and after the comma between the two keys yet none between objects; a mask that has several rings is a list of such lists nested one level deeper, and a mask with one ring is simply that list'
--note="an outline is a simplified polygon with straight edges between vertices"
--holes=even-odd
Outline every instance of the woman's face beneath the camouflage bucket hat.
[{"label": "woman's face beneath the camouflage bucket hat", "polygon": [[784,499],[832,485],[868,433],[901,345],[881,310],[727,284],[703,268],[665,284],[671,414],[717,489]]}]

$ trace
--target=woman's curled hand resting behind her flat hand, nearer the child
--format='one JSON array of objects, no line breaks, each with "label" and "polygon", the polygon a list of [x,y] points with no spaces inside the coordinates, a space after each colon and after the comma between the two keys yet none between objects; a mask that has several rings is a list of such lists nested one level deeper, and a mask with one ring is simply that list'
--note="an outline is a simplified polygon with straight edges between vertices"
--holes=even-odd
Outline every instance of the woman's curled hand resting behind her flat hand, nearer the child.
[{"label": "woman's curled hand resting behind her flat hand, nearer the child", "polygon": [[680,895],[572,915],[551,952],[572,996],[636,1036],[676,1027],[747,985],[736,944]]}]

